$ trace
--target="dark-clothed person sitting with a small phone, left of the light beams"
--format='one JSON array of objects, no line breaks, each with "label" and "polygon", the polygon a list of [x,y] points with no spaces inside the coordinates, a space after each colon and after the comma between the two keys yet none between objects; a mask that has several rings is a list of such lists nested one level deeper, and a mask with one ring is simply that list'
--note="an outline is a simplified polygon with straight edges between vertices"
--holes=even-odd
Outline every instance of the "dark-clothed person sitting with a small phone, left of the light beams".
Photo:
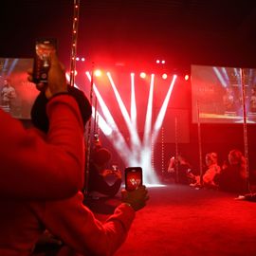
[{"label": "dark-clothed person sitting with a small phone, left of the light beams", "polygon": [[[89,165],[88,192],[92,196],[114,196],[119,192],[121,185],[120,170],[110,170],[109,162],[112,158],[111,153],[106,148],[98,148],[92,153]],[[107,177],[115,178],[114,183],[110,184]]]}]

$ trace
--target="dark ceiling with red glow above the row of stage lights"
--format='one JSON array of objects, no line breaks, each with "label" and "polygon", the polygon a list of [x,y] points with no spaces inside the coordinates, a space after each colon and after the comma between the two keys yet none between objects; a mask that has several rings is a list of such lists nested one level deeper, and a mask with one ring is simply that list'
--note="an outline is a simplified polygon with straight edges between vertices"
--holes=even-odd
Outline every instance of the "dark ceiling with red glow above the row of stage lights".
[{"label": "dark ceiling with red glow above the row of stage lights", "polygon": [[[2,57],[30,57],[53,36],[68,62],[72,0],[1,4]],[[256,66],[256,1],[81,0],[78,54],[101,62]]]}]

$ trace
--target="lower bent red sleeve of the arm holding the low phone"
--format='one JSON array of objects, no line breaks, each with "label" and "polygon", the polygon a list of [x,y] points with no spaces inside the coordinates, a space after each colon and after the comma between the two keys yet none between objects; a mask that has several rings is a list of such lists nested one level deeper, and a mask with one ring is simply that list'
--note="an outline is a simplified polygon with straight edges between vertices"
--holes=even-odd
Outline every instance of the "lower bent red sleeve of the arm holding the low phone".
[{"label": "lower bent red sleeve of the arm holding the low phone", "polygon": [[[104,224],[82,204],[82,193],[34,207],[53,235],[82,255],[113,255],[124,242],[135,218],[135,210],[120,204]],[[41,208],[41,209],[40,209]],[[44,208],[44,209],[43,209]]]}]

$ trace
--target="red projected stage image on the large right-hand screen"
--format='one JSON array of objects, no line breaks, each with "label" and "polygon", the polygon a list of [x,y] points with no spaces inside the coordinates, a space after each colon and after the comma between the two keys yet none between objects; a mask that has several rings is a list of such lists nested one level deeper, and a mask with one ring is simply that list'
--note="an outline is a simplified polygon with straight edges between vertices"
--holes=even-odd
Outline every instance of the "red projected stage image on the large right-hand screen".
[{"label": "red projected stage image on the large right-hand screen", "polygon": [[[256,123],[256,69],[243,70],[247,122]],[[240,68],[192,65],[193,122],[198,113],[200,122],[243,122]]]}]

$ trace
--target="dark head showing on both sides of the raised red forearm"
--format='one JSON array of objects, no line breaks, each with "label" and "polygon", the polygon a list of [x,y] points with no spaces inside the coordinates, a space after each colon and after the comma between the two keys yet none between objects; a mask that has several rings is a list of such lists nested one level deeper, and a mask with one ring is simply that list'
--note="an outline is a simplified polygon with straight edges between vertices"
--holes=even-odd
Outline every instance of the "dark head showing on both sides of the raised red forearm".
[{"label": "dark head showing on both sides of the raised red forearm", "polygon": [[[83,125],[85,125],[87,120],[90,119],[92,115],[92,108],[90,102],[88,101],[82,90],[79,90],[76,87],[68,85],[67,91],[78,102]],[[49,120],[46,115],[47,102],[48,99],[46,98],[45,92],[41,92],[34,101],[30,113],[33,125],[45,133],[47,133],[49,129]]]}]

